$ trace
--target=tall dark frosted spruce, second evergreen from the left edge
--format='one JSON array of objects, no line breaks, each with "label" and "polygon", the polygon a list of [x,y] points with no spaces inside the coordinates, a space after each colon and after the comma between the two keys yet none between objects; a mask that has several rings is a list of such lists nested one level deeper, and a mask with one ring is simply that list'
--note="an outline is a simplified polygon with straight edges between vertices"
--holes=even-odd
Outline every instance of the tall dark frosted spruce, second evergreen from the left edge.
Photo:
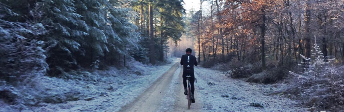
[{"label": "tall dark frosted spruce, second evergreen from the left edge", "polygon": [[45,0],[37,4],[43,6],[44,16],[47,17],[45,22],[51,26],[53,32],[42,38],[46,45],[55,45],[47,51],[49,74],[55,76],[76,69],[78,63],[75,54],[85,53],[81,46],[85,43],[83,37],[89,35],[89,26],[80,19],[82,16],[76,13],[72,0]]}]

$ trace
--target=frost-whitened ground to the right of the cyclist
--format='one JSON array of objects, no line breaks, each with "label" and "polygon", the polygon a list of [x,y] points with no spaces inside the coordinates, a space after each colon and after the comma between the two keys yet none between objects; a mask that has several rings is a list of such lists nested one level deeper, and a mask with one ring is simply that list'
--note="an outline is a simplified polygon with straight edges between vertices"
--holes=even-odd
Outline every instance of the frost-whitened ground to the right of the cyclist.
[{"label": "frost-whitened ground to the right of the cyclist", "polygon": [[195,78],[195,92],[206,112],[306,112],[294,100],[268,95],[277,85],[251,84],[202,67],[195,68]]}]

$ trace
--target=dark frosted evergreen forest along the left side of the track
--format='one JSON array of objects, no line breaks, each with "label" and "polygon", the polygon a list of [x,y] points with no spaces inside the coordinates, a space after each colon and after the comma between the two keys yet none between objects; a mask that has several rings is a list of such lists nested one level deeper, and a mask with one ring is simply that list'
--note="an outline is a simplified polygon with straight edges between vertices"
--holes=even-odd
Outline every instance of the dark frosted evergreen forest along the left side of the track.
[{"label": "dark frosted evergreen forest along the left side of the track", "polygon": [[164,61],[168,38],[183,33],[184,13],[179,0],[3,0],[2,76]]}]

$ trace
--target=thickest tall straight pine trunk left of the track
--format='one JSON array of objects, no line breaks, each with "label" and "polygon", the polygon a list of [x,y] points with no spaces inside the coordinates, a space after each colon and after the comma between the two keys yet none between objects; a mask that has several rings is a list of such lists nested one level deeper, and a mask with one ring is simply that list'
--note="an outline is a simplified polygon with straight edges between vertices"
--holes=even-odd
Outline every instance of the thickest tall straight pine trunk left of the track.
[{"label": "thickest tall straight pine trunk left of the track", "polygon": [[155,48],[154,48],[154,28],[153,28],[153,6],[152,1],[149,3],[149,38],[150,38],[150,63],[155,64]]}]

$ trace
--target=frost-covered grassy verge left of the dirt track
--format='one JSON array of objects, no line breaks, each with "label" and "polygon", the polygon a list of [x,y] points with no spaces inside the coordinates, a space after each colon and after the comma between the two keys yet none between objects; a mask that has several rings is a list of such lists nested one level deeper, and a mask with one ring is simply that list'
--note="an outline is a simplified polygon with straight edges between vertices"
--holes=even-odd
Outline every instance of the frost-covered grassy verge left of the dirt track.
[{"label": "frost-covered grassy verge left of the dirt track", "polygon": [[12,104],[0,100],[0,112],[118,111],[177,61],[169,59],[169,63],[162,66],[132,62],[131,68],[126,70],[79,72],[82,75],[69,80],[38,76],[19,87],[3,85],[0,90],[12,91],[11,95],[17,99]]}]

